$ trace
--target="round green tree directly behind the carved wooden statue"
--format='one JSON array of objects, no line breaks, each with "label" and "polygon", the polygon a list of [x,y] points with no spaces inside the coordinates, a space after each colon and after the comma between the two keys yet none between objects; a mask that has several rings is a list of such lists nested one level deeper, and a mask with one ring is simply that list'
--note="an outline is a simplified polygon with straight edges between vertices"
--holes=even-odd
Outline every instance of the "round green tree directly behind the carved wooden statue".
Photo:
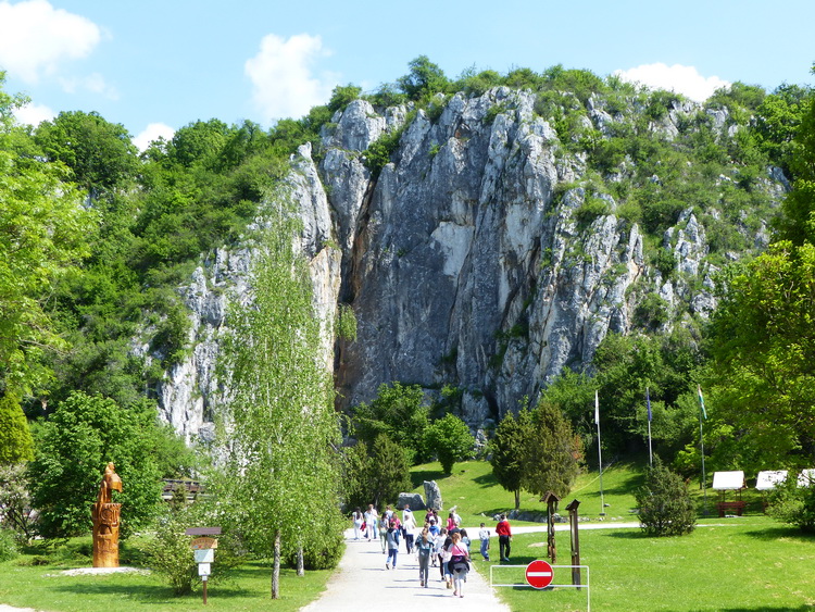
[{"label": "round green tree directly behind the carved wooden statue", "polygon": [[104,466],[113,462],[122,477],[123,535],[149,524],[161,502],[154,440],[162,435],[150,402],[127,409],[82,392],[60,402],[37,428],[35,459],[28,464],[32,502],[45,537],[88,533]]}]

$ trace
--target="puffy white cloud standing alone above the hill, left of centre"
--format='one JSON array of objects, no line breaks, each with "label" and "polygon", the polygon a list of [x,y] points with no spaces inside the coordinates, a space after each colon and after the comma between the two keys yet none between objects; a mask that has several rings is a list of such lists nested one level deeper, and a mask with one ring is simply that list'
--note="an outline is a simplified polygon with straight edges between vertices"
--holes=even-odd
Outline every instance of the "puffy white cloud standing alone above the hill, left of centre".
[{"label": "puffy white cloud standing alone above the hill, left of centre", "polygon": [[330,73],[315,76],[312,66],[329,55],[319,36],[298,34],[288,39],[269,34],[261,49],[247,60],[244,72],[253,85],[252,102],[264,122],[300,117],[328,101],[339,79]]}]

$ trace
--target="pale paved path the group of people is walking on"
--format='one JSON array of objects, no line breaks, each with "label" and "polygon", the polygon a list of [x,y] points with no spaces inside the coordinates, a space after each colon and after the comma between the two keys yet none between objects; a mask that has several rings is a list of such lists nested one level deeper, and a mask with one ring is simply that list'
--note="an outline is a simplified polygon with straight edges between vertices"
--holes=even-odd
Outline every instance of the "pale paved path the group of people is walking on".
[{"label": "pale paved path the group of people is walking on", "polygon": [[[468,529],[469,530],[469,529]],[[478,533],[476,528],[475,532]],[[444,586],[438,567],[430,567],[429,587],[418,585],[418,561],[399,547],[396,570],[386,570],[386,554],[379,540],[354,540],[353,530],[346,532],[346,553],[339,567],[329,578],[319,599],[303,608],[303,612],[344,612],[360,610],[468,610],[473,612],[510,612],[501,603],[484,578],[472,569],[464,586],[464,597],[453,597],[452,589]],[[478,542],[476,541],[476,546]],[[473,564],[480,555],[474,550]],[[476,557],[478,559],[476,559]]]}]

